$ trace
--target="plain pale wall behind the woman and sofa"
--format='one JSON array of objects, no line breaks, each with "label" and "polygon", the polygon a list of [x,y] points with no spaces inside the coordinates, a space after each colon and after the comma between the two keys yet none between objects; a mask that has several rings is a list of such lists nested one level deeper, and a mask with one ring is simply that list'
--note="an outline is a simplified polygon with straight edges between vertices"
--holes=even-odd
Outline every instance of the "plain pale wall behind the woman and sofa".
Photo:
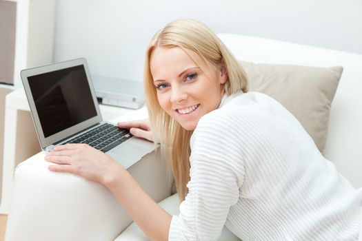
[{"label": "plain pale wall behind the woman and sofa", "polygon": [[141,81],[150,38],[190,17],[214,32],[362,54],[361,0],[58,0],[54,61],[85,56],[92,74]]}]

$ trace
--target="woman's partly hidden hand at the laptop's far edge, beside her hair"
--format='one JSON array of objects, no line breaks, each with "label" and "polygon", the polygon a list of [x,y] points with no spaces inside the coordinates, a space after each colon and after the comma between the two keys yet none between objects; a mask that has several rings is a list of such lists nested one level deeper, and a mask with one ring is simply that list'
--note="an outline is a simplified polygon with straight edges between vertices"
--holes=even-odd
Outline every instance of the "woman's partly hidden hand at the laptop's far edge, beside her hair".
[{"label": "woman's partly hidden hand at the laptop's far edge, beside her hair", "polygon": [[148,119],[141,121],[126,121],[117,124],[119,128],[130,129],[130,134],[139,138],[154,141],[151,134],[150,121]]}]

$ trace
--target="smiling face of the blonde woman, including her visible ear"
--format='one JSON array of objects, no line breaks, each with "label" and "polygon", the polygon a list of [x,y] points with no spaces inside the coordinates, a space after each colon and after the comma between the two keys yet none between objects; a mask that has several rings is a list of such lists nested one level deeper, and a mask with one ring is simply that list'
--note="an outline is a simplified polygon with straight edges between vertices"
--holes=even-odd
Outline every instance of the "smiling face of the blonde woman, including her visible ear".
[{"label": "smiling face of the blonde woman, including her visible ear", "polygon": [[201,116],[217,109],[228,80],[223,65],[208,67],[197,53],[178,47],[154,49],[150,70],[159,104],[187,130],[194,130]]}]

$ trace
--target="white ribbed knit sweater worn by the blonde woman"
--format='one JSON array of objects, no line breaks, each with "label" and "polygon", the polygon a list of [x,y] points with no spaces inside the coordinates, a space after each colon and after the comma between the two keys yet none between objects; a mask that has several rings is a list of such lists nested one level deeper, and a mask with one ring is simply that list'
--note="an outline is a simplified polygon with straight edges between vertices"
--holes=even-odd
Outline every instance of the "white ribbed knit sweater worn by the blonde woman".
[{"label": "white ribbed knit sweater worn by the blonde woman", "polygon": [[217,240],[224,224],[244,241],[362,240],[362,189],[265,94],[223,99],[190,145],[189,193],[169,240]]}]

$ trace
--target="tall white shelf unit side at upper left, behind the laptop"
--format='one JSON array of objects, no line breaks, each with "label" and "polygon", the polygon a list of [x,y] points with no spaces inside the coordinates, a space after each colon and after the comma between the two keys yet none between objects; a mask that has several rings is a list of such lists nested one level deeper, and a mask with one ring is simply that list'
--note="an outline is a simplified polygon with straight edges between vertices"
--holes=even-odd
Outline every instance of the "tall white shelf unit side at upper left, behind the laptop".
[{"label": "tall white shelf unit side at upper left, behind the laptop", "polygon": [[21,87],[20,72],[52,63],[56,0],[6,0],[17,3],[14,52],[14,88]]}]

